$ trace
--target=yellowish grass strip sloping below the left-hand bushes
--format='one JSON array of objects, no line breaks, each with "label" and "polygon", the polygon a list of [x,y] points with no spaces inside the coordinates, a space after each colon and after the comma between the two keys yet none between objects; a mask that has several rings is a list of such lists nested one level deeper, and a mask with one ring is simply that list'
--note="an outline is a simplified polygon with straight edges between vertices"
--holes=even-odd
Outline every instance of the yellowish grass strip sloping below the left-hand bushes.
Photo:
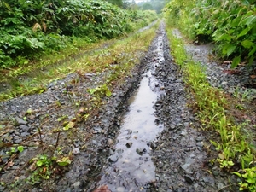
[{"label": "yellowish grass strip sloping below the left-hand bushes", "polygon": [[[42,93],[46,90],[45,84],[65,78],[69,73],[102,73],[113,68],[113,64],[119,64],[125,61],[129,61],[131,64],[131,59],[133,62],[136,62],[138,61],[139,55],[137,56],[135,53],[148,49],[154,37],[156,26],[154,25],[151,29],[144,32],[134,33],[128,38],[91,45],[87,49],[84,48],[86,54],[81,54],[78,57],[68,57],[67,59],[65,57],[65,55],[67,56],[67,51],[65,51],[65,54],[62,56],[60,55],[58,57],[54,55],[52,60],[49,57],[48,62],[44,60],[44,62],[39,62],[36,67],[29,67],[26,70],[22,69],[23,71],[21,71],[22,73],[26,73],[26,77],[20,78],[19,75],[10,75],[8,82],[11,88],[0,94],[0,102],[17,96]],[[111,45],[106,49],[97,49],[106,43]],[[62,57],[64,61],[61,61],[59,65],[52,65]],[[42,70],[42,67],[44,67],[44,70]]]}]

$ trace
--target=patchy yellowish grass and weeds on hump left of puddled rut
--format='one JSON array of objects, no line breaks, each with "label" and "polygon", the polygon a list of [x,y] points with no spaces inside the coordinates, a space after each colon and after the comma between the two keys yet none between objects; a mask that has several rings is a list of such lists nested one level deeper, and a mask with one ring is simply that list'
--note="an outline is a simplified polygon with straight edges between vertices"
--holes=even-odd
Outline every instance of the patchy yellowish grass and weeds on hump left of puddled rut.
[{"label": "patchy yellowish grass and weeds on hump left of puddled rut", "polygon": [[[20,186],[40,185],[45,180],[55,178],[68,170],[67,166],[73,163],[73,154],[75,152],[70,151],[70,145],[66,139],[76,141],[78,137],[82,137],[80,138],[81,140],[85,139],[87,141],[91,137],[91,134],[86,131],[77,136],[79,124],[84,125],[84,121],[93,117],[94,113],[99,108],[102,108],[106,99],[112,96],[113,89],[124,84],[125,79],[132,76],[132,68],[138,65],[142,56],[145,55],[158,26],[159,22],[144,32],[133,34],[129,38],[119,39],[108,48],[98,50],[93,55],[84,55],[77,61],[70,61],[67,65],[64,64],[54,69],[57,76],[67,74],[67,71],[69,72],[70,70],[76,71],[75,73],[81,75],[79,76],[81,79],[83,79],[84,73],[105,73],[105,75],[96,87],[89,87],[86,90],[90,96],[87,96],[84,100],[79,100],[78,96],[81,94],[79,90],[67,92],[70,100],[73,101],[73,113],[71,115],[70,113],[63,113],[61,117],[56,119],[55,123],[51,124],[54,127],[51,130],[43,130],[41,128],[44,125],[48,125],[50,115],[48,114],[41,120],[38,131],[26,139],[25,142],[19,145],[1,143],[1,147],[5,148],[9,160],[0,166],[0,172],[13,166],[13,160],[19,157],[23,148],[28,147],[26,142],[39,137],[39,142],[35,142],[32,146],[38,149],[42,148],[23,167],[29,172],[25,180],[19,177],[13,181],[2,179],[2,183],[0,183],[2,186],[8,189],[19,189]],[[80,80],[74,79],[72,83],[73,86],[79,86]],[[56,102],[54,113],[60,113],[63,108],[67,108],[67,106],[61,106],[60,103]],[[23,119],[30,119],[33,113],[35,112],[32,109],[28,109]],[[75,114],[74,117],[73,114]],[[55,127],[55,124],[57,127]],[[9,126],[12,126],[12,122],[8,122],[6,128],[8,129]],[[42,135],[56,137],[56,142],[46,143],[43,141]]]}]

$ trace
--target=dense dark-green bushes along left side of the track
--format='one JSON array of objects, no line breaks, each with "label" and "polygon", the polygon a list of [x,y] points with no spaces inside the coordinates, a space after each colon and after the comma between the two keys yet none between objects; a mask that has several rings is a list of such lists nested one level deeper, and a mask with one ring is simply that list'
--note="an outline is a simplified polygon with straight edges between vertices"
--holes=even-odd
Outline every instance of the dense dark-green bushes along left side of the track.
[{"label": "dense dark-green bushes along left side of the track", "polygon": [[132,22],[145,24],[145,16],[96,0],[1,0],[0,67],[29,65],[81,40],[119,37],[134,30]]}]

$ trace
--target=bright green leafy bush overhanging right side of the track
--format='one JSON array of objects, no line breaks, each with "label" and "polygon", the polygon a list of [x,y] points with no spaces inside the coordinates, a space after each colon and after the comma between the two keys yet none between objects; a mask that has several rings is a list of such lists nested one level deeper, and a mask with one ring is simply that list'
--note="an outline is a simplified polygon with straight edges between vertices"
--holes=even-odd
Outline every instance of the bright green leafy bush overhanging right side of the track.
[{"label": "bright green leafy bush overhanging right side of the track", "polygon": [[241,60],[251,64],[256,53],[255,0],[172,0],[166,16],[196,43],[214,41],[218,55],[232,58],[232,67]]}]

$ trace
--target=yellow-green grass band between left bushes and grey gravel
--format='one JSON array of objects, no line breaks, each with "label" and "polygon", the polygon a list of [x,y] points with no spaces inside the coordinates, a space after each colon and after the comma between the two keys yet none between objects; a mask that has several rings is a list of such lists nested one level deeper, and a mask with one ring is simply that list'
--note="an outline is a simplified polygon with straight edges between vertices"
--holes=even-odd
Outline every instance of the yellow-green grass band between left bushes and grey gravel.
[{"label": "yellow-green grass band between left bushes and grey gravel", "polygon": [[[152,29],[155,30],[155,27]],[[7,82],[10,89],[0,94],[0,102],[17,96],[42,93],[46,90],[45,84],[62,79],[68,73],[102,73],[113,68],[112,64],[131,62],[131,59],[137,62],[137,58],[133,58],[133,53],[147,49],[147,33],[145,31],[132,34],[128,38],[96,44],[88,44],[81,40],[61,50],[60,53],[42,58],[33,65],[30,63],[28,66],[11,69],[9,73],[2,71],[0,82]],[[106,45],[109,45],[108,48],[105,48]]]}]

